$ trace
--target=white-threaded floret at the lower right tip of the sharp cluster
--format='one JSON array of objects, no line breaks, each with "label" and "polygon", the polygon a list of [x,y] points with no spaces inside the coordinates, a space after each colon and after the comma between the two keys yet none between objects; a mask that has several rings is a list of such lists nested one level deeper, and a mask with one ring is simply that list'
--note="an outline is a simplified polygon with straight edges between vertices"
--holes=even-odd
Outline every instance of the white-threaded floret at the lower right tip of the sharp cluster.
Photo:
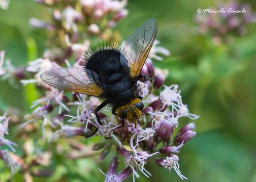
[{"label": "white-threaded floret at the lower right tip of the sharp cluster", "polygon": [[187,179],[184,175],[181,174],[181,172],[179,170],[178,161],[179,161],[179,157],[173,154],[172,156],[164,159],[161,162],[161,165],[164,166],[165,168],[167,168],[169,171],[171,171],[171,169],[173,168],[181,179]]}]

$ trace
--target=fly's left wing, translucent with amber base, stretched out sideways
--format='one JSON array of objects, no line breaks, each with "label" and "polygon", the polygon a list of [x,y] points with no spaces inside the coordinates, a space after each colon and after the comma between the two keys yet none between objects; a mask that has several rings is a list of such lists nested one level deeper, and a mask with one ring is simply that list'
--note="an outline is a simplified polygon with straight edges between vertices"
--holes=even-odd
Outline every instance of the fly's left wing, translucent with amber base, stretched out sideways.
[{"label": "fly's left wing, translucent with amber base, stretched out sideways", "polygon": [[101,97],[102,89],[95,84],[97,74],[91,70],[78,67],[58,68],[46,71],[41,79],[55,88]]}]

